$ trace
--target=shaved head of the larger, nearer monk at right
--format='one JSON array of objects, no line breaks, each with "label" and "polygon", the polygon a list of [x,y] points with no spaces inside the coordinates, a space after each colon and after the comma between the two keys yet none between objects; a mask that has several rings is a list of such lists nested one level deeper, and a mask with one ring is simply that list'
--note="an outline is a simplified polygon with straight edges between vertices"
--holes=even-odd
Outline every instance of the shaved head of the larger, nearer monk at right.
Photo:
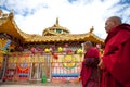
[{"label": "shaved head of the larger, nearer monk at right", "polygon": [[117,27],[120,24],[122,24],[122,22],[121,18],[118,16],[112,16],[107,18],[105,23],[106,33],[109,33],[113,28]]}]

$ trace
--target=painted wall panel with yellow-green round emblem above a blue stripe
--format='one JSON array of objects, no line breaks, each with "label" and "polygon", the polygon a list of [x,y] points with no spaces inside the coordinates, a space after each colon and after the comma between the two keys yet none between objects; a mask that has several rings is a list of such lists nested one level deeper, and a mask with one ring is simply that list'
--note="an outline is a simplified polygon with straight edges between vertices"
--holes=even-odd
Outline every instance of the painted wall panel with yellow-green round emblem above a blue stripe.
[{"label": "painted wall panel with yellow-green round emblem above a blue stripe", "polygon": [[72,82],[77,79],[80,74],[82,55],[60,54],[58,59],[52,59],[52,82],[58,79]]}]

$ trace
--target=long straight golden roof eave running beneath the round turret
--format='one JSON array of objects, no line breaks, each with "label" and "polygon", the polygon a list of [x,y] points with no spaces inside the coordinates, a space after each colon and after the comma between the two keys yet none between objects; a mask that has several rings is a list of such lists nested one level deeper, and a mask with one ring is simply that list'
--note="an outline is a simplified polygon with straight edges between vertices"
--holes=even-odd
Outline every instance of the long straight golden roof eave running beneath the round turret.
[{"label": "long straight golden roof eave running beneath the round turret", "polygon": [[79,35],[61,35],[61,36],[31,36],[25,42],[57,42],[57,41],[86,41],[103,44],[103,39],[96,37],[94,34],[79,34]]}]

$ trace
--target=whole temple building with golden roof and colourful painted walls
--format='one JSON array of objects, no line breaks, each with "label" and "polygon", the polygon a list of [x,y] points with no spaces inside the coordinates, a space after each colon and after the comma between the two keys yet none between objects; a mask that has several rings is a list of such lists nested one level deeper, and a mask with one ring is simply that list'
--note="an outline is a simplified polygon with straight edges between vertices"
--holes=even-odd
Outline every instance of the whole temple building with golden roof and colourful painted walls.
[{"label": "whole temple building with golden roof and colourful painted walls", "polygon": [[[37,30],[37,29],[36,29]],[[0,80],[1,82],[73,82],[80,73],[84,41],[94,46],[104,40],[93,34],[70,34],[58,23],[42,35],[22,32],[13,12],[0,10]]]}]

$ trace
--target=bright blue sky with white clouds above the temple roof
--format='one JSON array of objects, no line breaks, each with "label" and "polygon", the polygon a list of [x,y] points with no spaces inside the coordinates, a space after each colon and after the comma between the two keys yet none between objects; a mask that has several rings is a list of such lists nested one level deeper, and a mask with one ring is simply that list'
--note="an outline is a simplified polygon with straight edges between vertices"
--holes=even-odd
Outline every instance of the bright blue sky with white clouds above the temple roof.
[{"label": "bright blue sky with white clouds above the temple roof", "polygon": [[28,34],[41,35],[56,17],[72,34],[84,34],[94,26],[102,38],[107,17],[117,15],[130,24],[130,0],[0,0],[0,9],[13,10],[17,26]]}]

